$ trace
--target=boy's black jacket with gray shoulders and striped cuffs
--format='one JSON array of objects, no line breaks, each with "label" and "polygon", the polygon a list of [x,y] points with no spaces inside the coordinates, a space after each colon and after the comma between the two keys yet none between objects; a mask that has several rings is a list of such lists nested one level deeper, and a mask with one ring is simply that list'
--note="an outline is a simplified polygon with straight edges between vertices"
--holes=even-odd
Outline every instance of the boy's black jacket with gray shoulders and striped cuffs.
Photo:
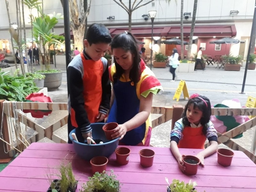
[{"label": "boy's black jacket with gray shoulders and striped cuffs", "polygon": [[[91,58],[83,51],[86,60]],[[104,65],[101,84],[102,84],[102,100],[99,108],[99,112],[107,114],[109,110],[109,103],[111,97],[111,84],[109,80],[108,61],[102,57],[101,61]],[[71,108],[75,110],[76,123],[82,133],[88,133],[92,131],[91,122],[88,119],[87,112],[84,108],[84,96],[83,96],[83,76],[84,67],[81,55],[78,54],[68,65],[67,70],[67,83],[68,83],[68,112],[71,114]],[[95,87],[95,89],[97,89]]]}]

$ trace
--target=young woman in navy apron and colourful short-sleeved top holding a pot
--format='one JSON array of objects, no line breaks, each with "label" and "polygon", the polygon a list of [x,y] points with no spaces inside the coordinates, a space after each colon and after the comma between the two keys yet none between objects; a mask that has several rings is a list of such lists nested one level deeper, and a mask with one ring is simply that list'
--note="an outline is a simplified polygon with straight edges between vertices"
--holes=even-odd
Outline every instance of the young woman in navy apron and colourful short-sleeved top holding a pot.
[{"label": "young woman in navy apron and colourful short-sleeved top holding a pot", "polygon": [[109,67],[109,76],[113,86],[107,123],[119,124],[111,136],[120,137],[119,145],[149,146],[153,94],[162,86],[140,58],[131,33],[116,35],[111,49],[114,63]]}]

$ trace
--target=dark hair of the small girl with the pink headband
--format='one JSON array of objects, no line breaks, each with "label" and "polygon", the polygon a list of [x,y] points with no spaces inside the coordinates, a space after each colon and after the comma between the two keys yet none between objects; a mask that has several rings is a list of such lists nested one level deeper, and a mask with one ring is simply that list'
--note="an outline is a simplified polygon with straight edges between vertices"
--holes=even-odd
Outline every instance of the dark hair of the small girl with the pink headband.
[{"label": "dark hair of the small girl with the pink headband", "polygon": [[[202,99],[204,99],[205,102],[207,103],[207,106],[205,105],[204,101],[198,97],[201,97]],[[203,116],[200,119],[200,123],[203,126],[203,133],[206,134],[206,129],[207,129],[206,124],[210,121],[210,117],[212,115],[211,102],[205,96],[199,95],[198,97],[188,100],[188,103],[185,106],[185,110],[182,113],[182,123],[184,124],[184,126],[190,126],[190,123],[187,118],[187,110],[188,110],[188,106],[190,106],[191,104],[194,104],[194,109],[198,108],[200,111],[203,112]]]}]

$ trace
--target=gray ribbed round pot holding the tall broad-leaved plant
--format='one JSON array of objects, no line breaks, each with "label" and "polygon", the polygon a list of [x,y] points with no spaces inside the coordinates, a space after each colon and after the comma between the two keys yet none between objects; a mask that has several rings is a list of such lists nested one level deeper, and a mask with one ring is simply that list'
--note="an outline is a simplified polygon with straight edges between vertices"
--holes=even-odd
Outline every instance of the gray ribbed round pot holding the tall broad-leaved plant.
[{"label": "gray ribbed round pot holding the tall broad-leaved plant", "polygon": [[48,91],[53,91],[59,88],[62,81],[62,71],[56,73],[41,73],[45,75],[44,87],[48,88]]}]

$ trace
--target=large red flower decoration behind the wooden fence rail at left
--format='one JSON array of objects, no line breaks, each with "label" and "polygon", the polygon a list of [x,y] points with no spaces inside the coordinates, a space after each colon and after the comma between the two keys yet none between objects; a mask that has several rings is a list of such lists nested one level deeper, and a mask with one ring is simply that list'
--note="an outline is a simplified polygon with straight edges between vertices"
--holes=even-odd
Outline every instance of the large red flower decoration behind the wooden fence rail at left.
[{"label": "large red flower decoration behind the wooden fence rail at left", "polygon": [[[46,102],[52,103],[52,99],[44,95],[44,93],[31,93],[25,98],[25,102]],[[24,109],[24,113],[31,113],[31,116],[34,118],[43,118],[52,113],[52,110],[30,110]]]}]

